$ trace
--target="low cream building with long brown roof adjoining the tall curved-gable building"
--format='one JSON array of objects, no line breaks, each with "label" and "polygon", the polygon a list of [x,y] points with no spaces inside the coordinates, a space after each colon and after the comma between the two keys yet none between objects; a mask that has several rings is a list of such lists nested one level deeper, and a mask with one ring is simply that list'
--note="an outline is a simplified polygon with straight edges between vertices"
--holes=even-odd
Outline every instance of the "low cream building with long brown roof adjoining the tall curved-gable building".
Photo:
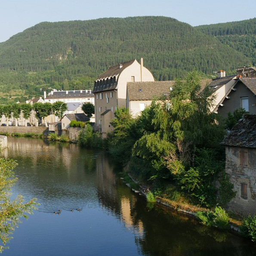
[{"label": "low cream building with long brown roof adjoining the tall curved-gable building", "polygon": [[129,82],[127,83],[126,108],[132,117],[140,115],[153,99],[169,99],[175,81]]}]

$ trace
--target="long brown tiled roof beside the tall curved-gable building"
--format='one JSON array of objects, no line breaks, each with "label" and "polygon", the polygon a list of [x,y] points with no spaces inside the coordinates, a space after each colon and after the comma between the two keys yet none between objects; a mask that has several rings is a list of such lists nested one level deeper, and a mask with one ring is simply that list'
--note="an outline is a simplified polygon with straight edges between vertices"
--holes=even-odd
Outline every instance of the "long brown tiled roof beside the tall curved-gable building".
[{"label": "long brown tiled roof beside the tall curved-gable building", "polygon": [[167,96],[175,81],[129,82],[127,93],[130,101],[152,100],[154,97]]}]

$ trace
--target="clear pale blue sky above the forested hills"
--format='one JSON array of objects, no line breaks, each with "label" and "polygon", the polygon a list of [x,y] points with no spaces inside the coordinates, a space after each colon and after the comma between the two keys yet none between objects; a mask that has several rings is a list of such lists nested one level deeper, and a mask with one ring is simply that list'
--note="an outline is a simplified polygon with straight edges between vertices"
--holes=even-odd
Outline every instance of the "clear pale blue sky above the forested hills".
[{"label": "clear pale blue sky above the forested hills", "polygon": [[167,16],[192,26],[256,17],[241,0],[1,0],[0,42],[40,22],[104,17]]}]

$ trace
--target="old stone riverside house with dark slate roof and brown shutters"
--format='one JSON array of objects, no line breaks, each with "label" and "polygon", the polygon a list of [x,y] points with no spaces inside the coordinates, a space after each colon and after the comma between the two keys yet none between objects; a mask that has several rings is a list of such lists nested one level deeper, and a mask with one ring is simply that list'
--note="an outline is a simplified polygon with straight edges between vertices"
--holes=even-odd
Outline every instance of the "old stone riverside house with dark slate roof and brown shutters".
[{"label": "old stone riverside house with dark slate roof and brown shutters", "polygon": [[225,137],[225,171],[236,196],[228,210],[247,216],[256,214],[256,115],[246,115]]}]

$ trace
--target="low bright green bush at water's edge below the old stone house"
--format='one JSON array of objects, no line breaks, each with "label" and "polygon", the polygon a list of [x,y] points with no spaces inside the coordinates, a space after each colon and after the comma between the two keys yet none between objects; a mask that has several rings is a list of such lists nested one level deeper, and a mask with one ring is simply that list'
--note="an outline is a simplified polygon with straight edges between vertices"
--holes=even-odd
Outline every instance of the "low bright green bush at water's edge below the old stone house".
[{"label": "low bright green bush at water's edge below the old stone house", "polygon": [[215,207],[214,212],[202,212],[198,211],[196,213],[197,218],[200,223],[210,227],[217,227],[221,229],[229,228],[229,216],[221,207]]}]

